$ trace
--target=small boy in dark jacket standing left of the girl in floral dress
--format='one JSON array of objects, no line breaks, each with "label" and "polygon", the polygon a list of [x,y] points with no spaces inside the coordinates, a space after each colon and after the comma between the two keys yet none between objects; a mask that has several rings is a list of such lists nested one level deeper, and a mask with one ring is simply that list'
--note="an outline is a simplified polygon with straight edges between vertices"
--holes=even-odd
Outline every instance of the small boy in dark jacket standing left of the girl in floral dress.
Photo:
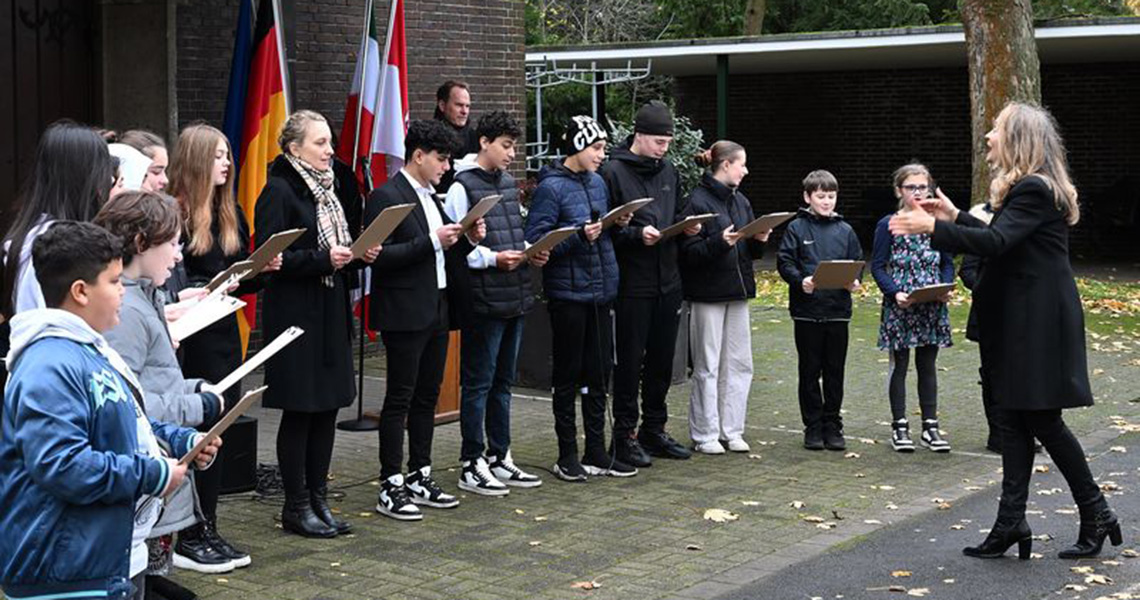
[{"label": "small boy in dark jacket standing left of the girl in floral dress", "polygon": [[[844,449],[844,366],[847,363],[847,324],[852,319],[852,292],[816,290],[812,277],[824,260],[862,260],[863,249],[850,225],[836,212],[839,183],[819,170],[804,179],[804,202],[780,241],[776,268],[788,282],[788,309],[796,324],[799,355],[799,411],[804,420],[804,447]],[[820,379],[823,390],[820,390]]]}]

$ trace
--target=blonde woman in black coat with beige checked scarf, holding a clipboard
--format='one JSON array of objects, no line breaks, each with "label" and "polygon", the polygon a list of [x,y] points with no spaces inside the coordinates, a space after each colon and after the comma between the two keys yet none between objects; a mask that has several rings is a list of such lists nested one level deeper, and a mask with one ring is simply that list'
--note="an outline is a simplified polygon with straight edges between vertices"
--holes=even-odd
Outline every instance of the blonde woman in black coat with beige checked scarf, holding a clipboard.
[{"label": "blonde woman in black coat with beige checked scarf, holding a clipboard", "polygon": [[282,155],[254,211],[260,246],[286,229],[304,234],[282,252],[280,270],[266,284],[261,305],[263,337],[271,340],[291,326],[304,335],[266,364],[267,408],[283,411],[277,429],[277,462],[285,486],[282,526],[306,537],[333,537],[351,526],[333,517],[327,501],[328,465],[336,435],[336,413],[352,404],[352,311],[349,271],[370,263],[352,260],[350,224],[359,222],[358,197],[339,193],[333,176],[328,122],[319,113],[290,115],[278,137]]}]

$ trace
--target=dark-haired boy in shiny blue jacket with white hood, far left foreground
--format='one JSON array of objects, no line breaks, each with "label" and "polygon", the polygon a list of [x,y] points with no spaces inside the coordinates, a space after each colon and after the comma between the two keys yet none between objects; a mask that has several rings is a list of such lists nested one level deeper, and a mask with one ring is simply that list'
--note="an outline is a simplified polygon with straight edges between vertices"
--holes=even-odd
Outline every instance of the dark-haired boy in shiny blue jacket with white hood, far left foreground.
[{"label": "dark-haired boy in shiny blue jacket with white hood, far left foreground", "polygon": [[[138,513],[176,489],[193,429],[149,420],[135,375],[103,331],[119,322],[121,242],[58,221],[32,260],[48,308],[11,319],[0,414],[0,587],[13,600],[130,598]],[[215,441],[198,456],[207,464]]]}]

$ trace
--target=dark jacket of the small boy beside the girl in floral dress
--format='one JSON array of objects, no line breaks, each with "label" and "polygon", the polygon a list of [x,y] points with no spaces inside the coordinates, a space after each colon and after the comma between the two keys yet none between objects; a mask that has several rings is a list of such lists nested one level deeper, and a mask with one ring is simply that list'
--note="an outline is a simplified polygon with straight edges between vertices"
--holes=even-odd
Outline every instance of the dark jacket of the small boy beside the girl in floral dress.
[{"label": "dark jacket of the small boy beside the girl in floral dress", "polygon": [[804,279],[815,273],[824,260],[863,260],[863,248],[850,225],[838,213],[821,217],[800,209],[788,225],[776,268],[788,282],[788,310],[791,318],[804,321],[848,321],[852,318],[852,294],[847,290],[804,292]]}]

